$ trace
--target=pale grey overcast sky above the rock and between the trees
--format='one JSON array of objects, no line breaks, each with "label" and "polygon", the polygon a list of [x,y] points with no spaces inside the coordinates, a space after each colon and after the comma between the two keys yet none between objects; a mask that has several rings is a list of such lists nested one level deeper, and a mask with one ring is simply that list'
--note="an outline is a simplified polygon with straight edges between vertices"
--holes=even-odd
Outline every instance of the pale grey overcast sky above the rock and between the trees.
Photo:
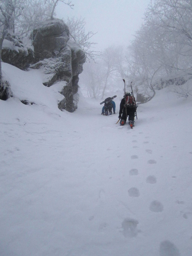
[{"label": "pale grey overcast sky above the rock and between the trees", "polygon": [[128,45],[143,23],[150,0],[71,0],[74,9],[63,3],[56,8],[57,18],[85,18],[86,30],[97,32],[91,41],[97,50],[110,45]]}]

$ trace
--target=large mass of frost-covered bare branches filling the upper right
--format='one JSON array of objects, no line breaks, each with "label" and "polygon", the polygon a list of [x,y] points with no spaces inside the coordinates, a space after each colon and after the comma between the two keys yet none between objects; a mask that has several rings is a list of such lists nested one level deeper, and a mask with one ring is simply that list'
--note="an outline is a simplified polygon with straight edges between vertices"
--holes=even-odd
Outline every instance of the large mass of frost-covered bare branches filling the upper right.
[{"label": "large mass of frost-covered bare branches filling the upper right", "polygon": [[[148,89],[180,83],[192,75],[192,2],[156,0],[145,13],[144,25],[135,34],[127,56],[129,76]],[[151,80],[152,79],[152,80]]]}]

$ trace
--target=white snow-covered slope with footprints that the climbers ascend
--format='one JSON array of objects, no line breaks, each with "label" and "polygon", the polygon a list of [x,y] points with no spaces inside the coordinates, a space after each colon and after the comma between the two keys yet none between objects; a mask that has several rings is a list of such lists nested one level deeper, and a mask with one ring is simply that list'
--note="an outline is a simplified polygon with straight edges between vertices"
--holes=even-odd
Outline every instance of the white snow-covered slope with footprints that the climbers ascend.
[{"label": "white snow-covered slope with footprints that the climbers ascend", "polygon": [[61,112],[38,71],[3,74],[1,256],[192,255],[192,98],[157,91],[130,129],[82,95]]}]

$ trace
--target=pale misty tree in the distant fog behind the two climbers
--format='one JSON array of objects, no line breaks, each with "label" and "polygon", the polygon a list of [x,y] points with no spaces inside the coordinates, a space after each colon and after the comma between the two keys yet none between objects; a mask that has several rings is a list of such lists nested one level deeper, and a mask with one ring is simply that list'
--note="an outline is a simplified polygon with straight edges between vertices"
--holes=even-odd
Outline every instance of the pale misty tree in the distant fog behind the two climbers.
[{"label": "pale misty tree in the distant fog behind the two climbers", "polygon": [[122,46],[109,46],[94,61],[84,64],[81,81],[87,95],[103,99],[108,93],[119,90],[127,74],[125,60]]}]

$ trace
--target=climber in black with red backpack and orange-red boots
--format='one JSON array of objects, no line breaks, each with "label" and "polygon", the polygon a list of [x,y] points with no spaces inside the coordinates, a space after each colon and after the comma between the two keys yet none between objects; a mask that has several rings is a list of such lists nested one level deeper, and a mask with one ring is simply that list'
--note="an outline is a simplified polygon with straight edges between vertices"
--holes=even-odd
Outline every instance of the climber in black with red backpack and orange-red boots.
[{"label": "climber in black with red backpack and orange-red boots", "polygon": [[123,99],[121,99],[119,109],[118,118],[121,119],[120,125],[124,125],[128,117],[129,125],[131,126],[131,128],[133,128],[136,108],[137,106],[135,102],[135,97],[131,96],[131,93],[125,92]]}]

